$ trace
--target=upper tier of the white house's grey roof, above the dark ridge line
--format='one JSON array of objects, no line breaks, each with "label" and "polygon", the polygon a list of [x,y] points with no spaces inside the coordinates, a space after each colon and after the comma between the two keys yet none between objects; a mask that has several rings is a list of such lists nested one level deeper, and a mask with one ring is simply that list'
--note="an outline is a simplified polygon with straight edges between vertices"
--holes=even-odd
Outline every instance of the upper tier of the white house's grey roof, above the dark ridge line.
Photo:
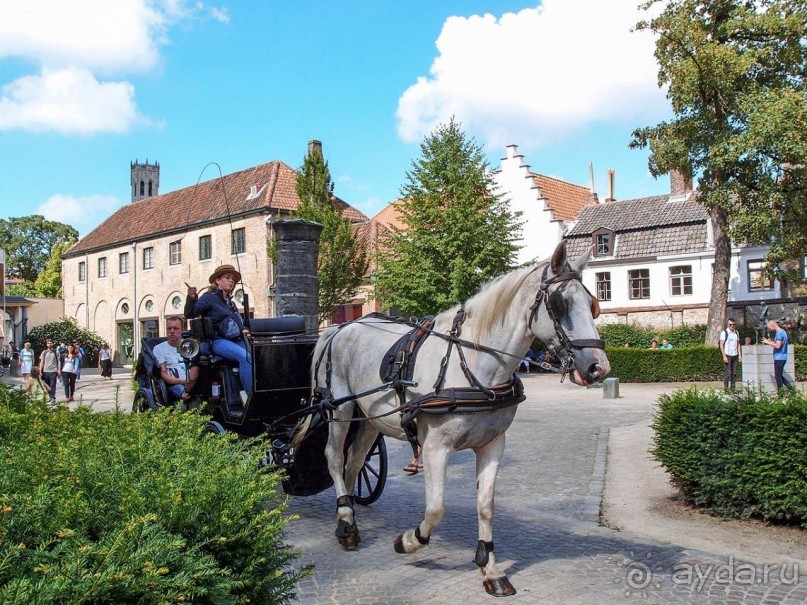
[{"label": "upper tier of the white house's grey roof, above the dark ridge line", "polygon": [[669,199],[669,195],[656,195],[604,204],[587,204],[580,210],[577,224],[568,235],[591,235],[601,227],[619,232],[694,223],[709,218],[706,209],[693,198],[672,202]]}]

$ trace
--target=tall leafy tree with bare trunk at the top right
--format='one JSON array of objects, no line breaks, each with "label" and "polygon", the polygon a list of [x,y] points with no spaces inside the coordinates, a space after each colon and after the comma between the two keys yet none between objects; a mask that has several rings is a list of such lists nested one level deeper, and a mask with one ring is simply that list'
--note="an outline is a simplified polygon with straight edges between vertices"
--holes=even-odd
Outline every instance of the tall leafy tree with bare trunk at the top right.
[{"label": "tall leafy tree with bare trunk at the top right", "polygon": [[699,175],[715,246],[708,343],[726,315],[732,240],[775,238],[770,259],[804,253],[806,28],[794,0],[669,0],[637,25],[658,36],[674,118],[634,131],[631,147],[650,148],[653,175]]}]

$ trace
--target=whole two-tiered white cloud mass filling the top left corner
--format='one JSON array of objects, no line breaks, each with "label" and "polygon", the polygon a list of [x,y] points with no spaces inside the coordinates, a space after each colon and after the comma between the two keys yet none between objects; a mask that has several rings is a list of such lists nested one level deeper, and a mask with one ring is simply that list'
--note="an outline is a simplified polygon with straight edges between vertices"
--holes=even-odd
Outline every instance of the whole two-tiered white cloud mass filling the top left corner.
[{"label": "whole two-tiered white cloud mass filling the top left corner", "polygon": [[145,120],[121,76],[159,67],[169,26],[198,15],[227,23],[226,9],[190,0],[2,2],[0,60],[31,74],[5,83],[0,125],[63,133],[126,132]]}]

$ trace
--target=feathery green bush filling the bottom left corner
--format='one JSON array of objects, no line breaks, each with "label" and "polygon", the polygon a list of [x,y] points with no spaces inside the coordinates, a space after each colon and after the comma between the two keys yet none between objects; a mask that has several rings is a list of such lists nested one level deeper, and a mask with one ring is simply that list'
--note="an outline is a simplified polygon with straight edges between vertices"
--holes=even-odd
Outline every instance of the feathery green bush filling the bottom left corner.
[{"label": "feathery green bush filling the bottom left corner", "polygon": [[0,385],[0,603],[287,603],[285,497],[263,444],[194,413],[29,405]]}]

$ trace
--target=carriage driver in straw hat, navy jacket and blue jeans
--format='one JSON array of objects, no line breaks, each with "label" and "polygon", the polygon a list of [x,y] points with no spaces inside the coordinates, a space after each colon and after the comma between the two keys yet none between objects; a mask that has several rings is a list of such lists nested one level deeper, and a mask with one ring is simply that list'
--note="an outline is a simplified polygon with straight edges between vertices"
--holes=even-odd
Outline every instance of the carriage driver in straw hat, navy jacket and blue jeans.
[{"label": "carriage driver in straw hat, navy jacket and blue jeans", "polygon": [[209,281],[210,287],[201,296],[197,295],[196,288],[188,286],[185,317],[207,317],[212,321],[216,332],[213,354],[238,364],[241,401],[246,404],[252,391],[252,357],[245,341],[250,333],[244,327],[232,298],[235,285],[241,281],[241,274],[232,265],[221,265],[211,274]]}]

